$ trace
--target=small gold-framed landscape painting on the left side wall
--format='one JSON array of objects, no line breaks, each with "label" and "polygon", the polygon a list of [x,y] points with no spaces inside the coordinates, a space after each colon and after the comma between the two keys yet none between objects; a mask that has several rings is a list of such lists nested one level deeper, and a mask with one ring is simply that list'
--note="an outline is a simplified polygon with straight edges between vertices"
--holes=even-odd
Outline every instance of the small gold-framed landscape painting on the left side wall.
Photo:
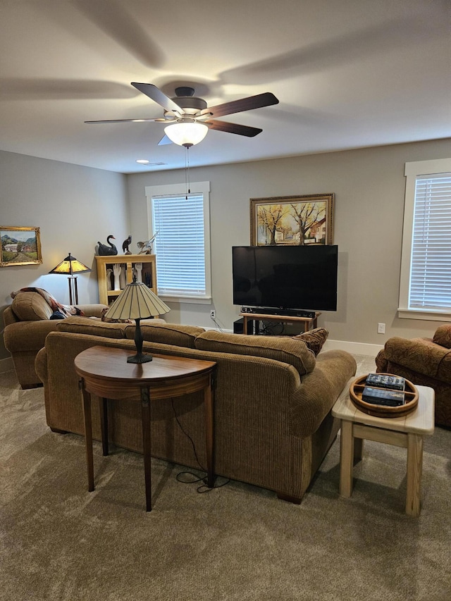
[{"label": "small gold-framed landscape painting on the left side wall", "polygon": [[0,267],[42,263],[39,228],[0,225]]}]

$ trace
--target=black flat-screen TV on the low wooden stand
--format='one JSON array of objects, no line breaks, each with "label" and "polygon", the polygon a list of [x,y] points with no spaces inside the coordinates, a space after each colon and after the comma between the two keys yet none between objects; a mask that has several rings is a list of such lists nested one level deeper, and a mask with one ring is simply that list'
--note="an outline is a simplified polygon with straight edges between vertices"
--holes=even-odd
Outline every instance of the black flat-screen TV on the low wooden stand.
[{"label": "black flat-screen TV on the low wooden stand", "polygon": [[338,246],[232,247],[233,304],[337,310]]}]

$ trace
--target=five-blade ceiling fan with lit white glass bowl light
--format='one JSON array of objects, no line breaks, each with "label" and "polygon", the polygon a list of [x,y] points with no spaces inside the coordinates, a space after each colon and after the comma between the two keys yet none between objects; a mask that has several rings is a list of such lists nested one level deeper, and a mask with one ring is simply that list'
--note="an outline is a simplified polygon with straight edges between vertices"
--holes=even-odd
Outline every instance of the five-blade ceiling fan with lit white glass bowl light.
[{"label": "five-blade ceiling fan with lit white glass bowl light", "polygon": [[151,83],[132,82],[132,86],[162,106],[164,109],[163,117],[156,119],[110,119],[85,121],[85,123],[140,123],[144,121],[166,123],[167,126],[164,130],[166,135],[163,136],[159,144],[174,142],[189,148],[202,142],[209,129],[247,137],[256,136],[263,130],[248,125],[218,121],[216,117],[278,104],[278,99],[271,92],[224,102],[216,106],[207,106],[203,98],[194,96],[194,88],[189,86],[176,87],[174,98],[169,98],[161,92],[161,89]]}]

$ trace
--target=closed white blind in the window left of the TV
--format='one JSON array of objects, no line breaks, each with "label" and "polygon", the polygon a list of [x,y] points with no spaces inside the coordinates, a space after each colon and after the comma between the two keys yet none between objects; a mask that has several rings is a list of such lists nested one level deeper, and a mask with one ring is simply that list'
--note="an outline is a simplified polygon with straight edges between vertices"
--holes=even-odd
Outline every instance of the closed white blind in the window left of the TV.
[{"label": "closed white blind in the window left of the TV", "polygon": [[203,194],[152,197],[152,223],[159,294],[205,296]]}]

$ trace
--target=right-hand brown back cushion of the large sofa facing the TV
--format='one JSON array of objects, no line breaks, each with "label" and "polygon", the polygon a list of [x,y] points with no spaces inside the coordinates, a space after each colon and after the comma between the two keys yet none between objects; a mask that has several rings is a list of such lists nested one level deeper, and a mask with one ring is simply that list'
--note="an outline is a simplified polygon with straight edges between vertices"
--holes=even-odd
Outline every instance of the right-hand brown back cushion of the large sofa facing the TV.
[{"label": "right-hand brown back cushion of the large sofa facing the TV", "polygon": [[252,336],[208,330],[197,336],[194,348],[276,359],[295,367],[301,376],[313,371],[316,362],[305,342],[290,336]]}]

